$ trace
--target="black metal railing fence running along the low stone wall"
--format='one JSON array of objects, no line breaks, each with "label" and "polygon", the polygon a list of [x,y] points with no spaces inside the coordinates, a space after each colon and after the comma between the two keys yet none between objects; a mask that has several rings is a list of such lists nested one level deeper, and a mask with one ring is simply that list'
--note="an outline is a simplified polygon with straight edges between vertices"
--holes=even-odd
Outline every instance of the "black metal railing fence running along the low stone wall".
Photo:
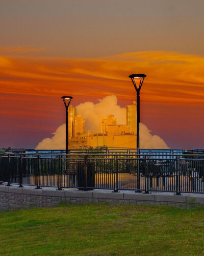
[{"label": "black metal railing fence running along the low stone wall", "polygon": [[204,155],[7,154],[0,181],[62,188],[204,193]]}]

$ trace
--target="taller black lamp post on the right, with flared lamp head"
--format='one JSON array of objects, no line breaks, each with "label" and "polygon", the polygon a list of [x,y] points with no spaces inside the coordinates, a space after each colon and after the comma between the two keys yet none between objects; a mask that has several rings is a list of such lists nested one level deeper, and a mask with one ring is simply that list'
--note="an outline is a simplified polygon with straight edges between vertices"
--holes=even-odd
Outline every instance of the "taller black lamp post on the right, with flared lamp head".
[{"label": "taller black lamp post on the right, with flared lamp head", "polygon": [[[146,75],[132,74],[129,77],[131,78],[133,85],[135,87],[135,90],[137,92],[137,154],[139,155],[140,154],[140,90]],[[138,157],[137,157],[137,191],[136,192],[142,192],[140,188],[140,169],[139,169]]]}]

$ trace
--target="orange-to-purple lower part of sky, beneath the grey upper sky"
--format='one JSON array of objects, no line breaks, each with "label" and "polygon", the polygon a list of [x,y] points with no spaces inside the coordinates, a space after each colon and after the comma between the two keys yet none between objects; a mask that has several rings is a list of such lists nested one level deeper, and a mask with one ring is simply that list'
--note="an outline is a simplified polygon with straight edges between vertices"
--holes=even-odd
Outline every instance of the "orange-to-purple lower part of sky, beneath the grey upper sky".
[{"label": "orange-to-purple lower part of sky, beneath the grey upper sky", "polygon": [[92,59],[2,56],[0,147],[32,148],[51,136],[64,123],[63,95],[73,96],[73,105],[107,95],[121,106],[131,103],[132,73],[147,75],[141,122],[171,148],[203,147],[203,68],[203,57],[165,51]]}]

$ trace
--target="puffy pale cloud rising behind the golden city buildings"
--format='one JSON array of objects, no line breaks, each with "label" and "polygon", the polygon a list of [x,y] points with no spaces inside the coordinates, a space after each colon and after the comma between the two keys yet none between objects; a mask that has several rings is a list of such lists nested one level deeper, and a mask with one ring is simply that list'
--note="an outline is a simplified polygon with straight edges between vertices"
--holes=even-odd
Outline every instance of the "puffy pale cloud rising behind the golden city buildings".
[{"label": "puffy pale cloud rising behind the golden city buildings", "polygon": [[[125,124],[125,108],[117,104],[115,95],[107,96],[98,103],[81,103],[77,106],[77,112],[86,119],[86,130],[100,131],[100,118],[113,114],[118,124]],[[168,148],[165,141],[158,135],[152,135],[147,126],[140,123],[140,147],[141,148]],[[52,150],[65,148],[65,124],[58,127],[52,138],[43,139],[36,150]]]}]

